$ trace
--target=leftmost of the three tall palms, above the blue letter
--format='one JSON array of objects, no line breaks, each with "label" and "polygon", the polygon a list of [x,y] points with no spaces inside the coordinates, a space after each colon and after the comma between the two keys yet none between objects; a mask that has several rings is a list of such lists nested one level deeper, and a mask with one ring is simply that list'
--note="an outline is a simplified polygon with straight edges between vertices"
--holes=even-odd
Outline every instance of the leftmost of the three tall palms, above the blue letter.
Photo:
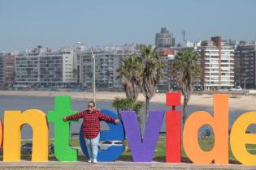
[{"label": "leftmost of the three tall palms, above the blue letter", "polygon": [[128,99],[136,100],[141,88],[142,63],[136,54],[124,58],[117,69],[117,79],[124,78],[124,91]]}]

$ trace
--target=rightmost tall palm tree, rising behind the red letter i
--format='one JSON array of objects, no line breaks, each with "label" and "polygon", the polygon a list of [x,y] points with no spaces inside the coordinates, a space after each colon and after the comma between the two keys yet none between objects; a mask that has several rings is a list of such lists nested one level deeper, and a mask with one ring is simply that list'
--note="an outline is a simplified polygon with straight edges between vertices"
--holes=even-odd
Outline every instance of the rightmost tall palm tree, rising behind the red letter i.
[{"label": "rightmost tall palm tree, rising behind the red letter i", "polygon": [[197,77],[201,76],[202,72],[202,68],[198,62],[199,59],[200,56],[193,53],[191,50],[180,51],[175,57],[175,62],[173,63],[171,71],[171,74],[176,74],[178,86],[184,96],[182,116],[183,125],[187,118],[187,105],[193,92],[193,82]]}]

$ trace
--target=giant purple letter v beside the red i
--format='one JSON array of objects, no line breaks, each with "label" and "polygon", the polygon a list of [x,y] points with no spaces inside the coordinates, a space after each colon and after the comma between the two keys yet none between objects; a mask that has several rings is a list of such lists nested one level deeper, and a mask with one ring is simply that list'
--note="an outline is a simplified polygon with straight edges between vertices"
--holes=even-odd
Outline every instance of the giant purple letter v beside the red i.
[{"label": "giant purple letter v beside the red i", "polygon": [[154,149],[158,141],[159,131],[163,122],[164,111],[150,111],[144,138],[141,138],[141,130],[134,111],[122,111],[121,117],[124,123],[125,134],[132,151],[134,162],[151,162],[154,157]]}]

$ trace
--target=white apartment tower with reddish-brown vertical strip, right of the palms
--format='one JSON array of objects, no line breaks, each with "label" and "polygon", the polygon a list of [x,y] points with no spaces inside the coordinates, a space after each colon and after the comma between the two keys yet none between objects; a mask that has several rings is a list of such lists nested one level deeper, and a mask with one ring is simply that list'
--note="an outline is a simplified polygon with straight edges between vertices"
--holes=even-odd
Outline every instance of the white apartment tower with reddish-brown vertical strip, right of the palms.
[{"label": "white apartment tower with reddish-brown vertical strip, right of the palms", "polygon": [[202,87],[204,90],[234,86],[234,50],[220,36],[202,41]]}]

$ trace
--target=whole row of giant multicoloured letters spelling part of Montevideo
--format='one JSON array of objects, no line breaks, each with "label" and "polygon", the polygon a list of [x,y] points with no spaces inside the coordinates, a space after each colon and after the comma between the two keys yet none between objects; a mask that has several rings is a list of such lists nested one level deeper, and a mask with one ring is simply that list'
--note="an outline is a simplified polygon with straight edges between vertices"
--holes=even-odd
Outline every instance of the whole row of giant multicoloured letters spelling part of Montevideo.
[{"label": "whole row of giant multicoloured letters spelling part of Montevideo", "polygon": [[[205,111],[192,113],[184,124],[181,133],[181,112],[176,110],[180,106],[181,94],[170,92],[166,95],[166,104],[172,110],[150,111],[145,124],[145,133],[141,138],[141,130],[134,111],[122,111],[122,124],[107,122],[109,130],[101,131],[100,140],[124,140],[128,138],[132,158],[135,162],[150,162],[154,157],[159,131],[166,114],[166,162],[180,163],[181,137],[186,155],[195,164],[228,164],[228,147],[234,157],[241,164],[256,165],[256,155],[249,153],[247,144],[256,144],[256,134],[246,134],[249,125],[256,124],[256,112],[243,113],[232,125],[228,136],[228,95],[215,94],[213,99],[213,116]],[[78,111],[72,110],[70,96],[56,96],[54,110],[46,113],[38,109],[4,112],[4,128],[0,121],[0,147],[3,145],[3,162],[20,161],[21,129],[28,124],[33,129],[33,162],[48,161],[48,123],[54,123],[54,154],[59,161],[77,161],[77,150],[69,144],[71,121],[63,121]],[[111,117],[117,114],[110,110],[101,110]],[[214,130],[215,144],[210,151],[203,151],[198,143],[198,131],[203,125],[210,125]],[[125,134],[124,134],[125,132]],[[88,156],[85,140],[80,130],[80,147]],[[98,161],[113,161],[118,159],[124,151],[123,146],[112,146],[106,151],[99,151]]]}]

